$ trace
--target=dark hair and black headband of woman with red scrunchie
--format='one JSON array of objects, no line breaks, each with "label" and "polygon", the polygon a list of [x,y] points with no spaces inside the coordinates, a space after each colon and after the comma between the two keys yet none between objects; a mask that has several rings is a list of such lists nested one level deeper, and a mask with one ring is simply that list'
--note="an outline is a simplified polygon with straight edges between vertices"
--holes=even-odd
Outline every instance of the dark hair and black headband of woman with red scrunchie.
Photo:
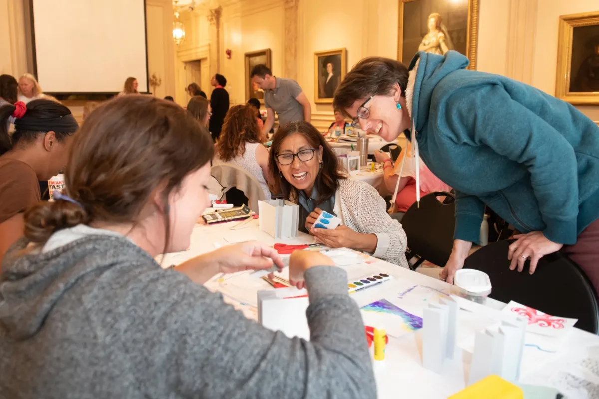
[{"label": "dark hair and black headband of woman with red scrunchie", "polygon": [[77,121],[71,110],[56,101],[48,99],[33,100],[26,106],[25,114],[14,121],[14,133],[8,135],[8,117],[13,115],[17,106],[25,108],[23,102],[17,105],[0,107],[0,155],[15,145],[27,145],[47,132],[56,133],[56,139],[62,141],[78,129]]}]

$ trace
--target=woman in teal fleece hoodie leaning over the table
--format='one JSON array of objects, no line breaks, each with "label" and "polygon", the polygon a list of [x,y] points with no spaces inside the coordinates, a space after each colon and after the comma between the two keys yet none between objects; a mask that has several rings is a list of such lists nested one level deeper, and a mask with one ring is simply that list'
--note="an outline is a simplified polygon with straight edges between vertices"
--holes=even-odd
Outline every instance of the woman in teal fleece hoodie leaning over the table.
[{"label": "woman in teal fleece hoodie leaning over the table", "polygon": [[[409,68],[368,58],[338,88],[334,106],[392,141],[404,130],[429,169],[456,190],[453,282],[485,206],[516,227],[510,269],[532,274],[562,249],[599,291],[599,127],[568,103],[518,81],[468,71],[456,51],[419,52]],[[416,190],[418,191],[418,190]]]}]

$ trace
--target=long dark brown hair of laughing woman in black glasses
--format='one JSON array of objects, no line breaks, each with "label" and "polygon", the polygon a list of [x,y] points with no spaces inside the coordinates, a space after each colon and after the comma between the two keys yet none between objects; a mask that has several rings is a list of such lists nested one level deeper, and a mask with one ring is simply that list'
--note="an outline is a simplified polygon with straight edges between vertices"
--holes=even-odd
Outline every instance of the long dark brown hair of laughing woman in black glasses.
[{"label": "long dark brown hair of laughing woman in black glasses", "polygon": [[320,172],[314,182],[314,186],[320,194],[320,198],[316,203],[316,205],[319,205],[335,195],[339,187],[339,180],[346,178],[346,176],[339,170],[339,160],[335,151],[326,142],[318,129],[306,121],[288,122],[279,127],[277,132],[274,133],[273,145],[271,145],[268,153],[268,172],[273,176],[270,182],[270,189],[273,193],[283,194],[283,198],[287,200],[290,197],[297,198],[297,188],[282,176],[276,159],[283,140],[294,133],[304,136],[313,148],[319,148],[322,145],[322,168],[320,168]]}]

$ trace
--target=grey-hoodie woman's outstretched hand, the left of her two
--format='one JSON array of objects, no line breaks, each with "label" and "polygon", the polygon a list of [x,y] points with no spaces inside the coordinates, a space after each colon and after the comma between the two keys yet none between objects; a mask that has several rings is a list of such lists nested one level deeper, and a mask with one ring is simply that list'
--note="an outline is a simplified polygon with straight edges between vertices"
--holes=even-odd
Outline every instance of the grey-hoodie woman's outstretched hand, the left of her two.
[{"label": "grey-hoodie woman's outstretched hand, the left of her two", "polygon": [[257,241],[223,246],[207,255],[211,262],[218,265],[221,273],[270,269],[273,264],[279,268],[279,271],[283,269],[283,261],[277,251]]}]

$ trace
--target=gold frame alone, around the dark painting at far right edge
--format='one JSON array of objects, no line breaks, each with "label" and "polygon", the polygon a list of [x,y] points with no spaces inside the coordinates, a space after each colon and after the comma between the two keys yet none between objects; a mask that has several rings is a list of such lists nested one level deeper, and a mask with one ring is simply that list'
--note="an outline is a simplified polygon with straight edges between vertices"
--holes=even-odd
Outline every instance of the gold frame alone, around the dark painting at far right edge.
[{"label": "gold frame alone, around the dark painting at far right edge", "polygon": [[572,32],[580,26],[599,25],[599,12],[559,17],[558,63],[555,69],[555,96],[571,104],[598,105],[599,92],[570,92]]}]

